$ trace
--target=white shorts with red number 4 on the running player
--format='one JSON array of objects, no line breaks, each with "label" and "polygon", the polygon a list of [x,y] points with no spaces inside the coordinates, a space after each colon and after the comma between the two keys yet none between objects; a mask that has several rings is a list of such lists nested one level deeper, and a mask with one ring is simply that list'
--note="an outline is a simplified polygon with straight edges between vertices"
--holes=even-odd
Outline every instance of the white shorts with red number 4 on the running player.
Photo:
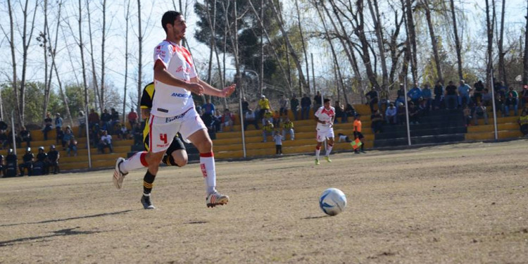
[{"label": "white shorts with red number 4 on the running player", "polygon": [[178,132],[182,134],[182,140],[188,142],[187,138],[191,134],[207,129],[194,107],[172,118],[151,115],[148,125],[150,126],[149,146],[153,153],[167,150]]}]

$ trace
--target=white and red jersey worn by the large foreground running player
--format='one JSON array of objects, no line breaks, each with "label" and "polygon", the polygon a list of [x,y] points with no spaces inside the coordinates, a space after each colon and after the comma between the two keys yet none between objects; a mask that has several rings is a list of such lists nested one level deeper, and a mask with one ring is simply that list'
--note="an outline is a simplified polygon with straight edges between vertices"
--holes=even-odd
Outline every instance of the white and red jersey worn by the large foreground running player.
[{"label": "white and red jersey worn by the large foreground running player", "polygon": [[[189,82],[197,77],[191,53],[183,46],[163,40],[154,49],[154,64],[161,61],[168,73],[180,80]],[[189,108],[194,108],[191,92],[154,80],[156,96],[152,101],[151,114],[161,117],[180,115]]]}]

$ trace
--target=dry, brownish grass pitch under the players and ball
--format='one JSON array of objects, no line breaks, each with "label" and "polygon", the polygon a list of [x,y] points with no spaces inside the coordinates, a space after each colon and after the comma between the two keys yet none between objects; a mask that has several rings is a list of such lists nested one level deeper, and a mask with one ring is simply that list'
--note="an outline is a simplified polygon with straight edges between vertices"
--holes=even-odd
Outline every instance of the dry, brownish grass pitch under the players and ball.
[{"label": "dry, brownish grass pitch under the players and ball", "polygon": [[[528,141],[0,179],[0,263],[528,263]],[[348,199],[325,216],[328,187]]]}]

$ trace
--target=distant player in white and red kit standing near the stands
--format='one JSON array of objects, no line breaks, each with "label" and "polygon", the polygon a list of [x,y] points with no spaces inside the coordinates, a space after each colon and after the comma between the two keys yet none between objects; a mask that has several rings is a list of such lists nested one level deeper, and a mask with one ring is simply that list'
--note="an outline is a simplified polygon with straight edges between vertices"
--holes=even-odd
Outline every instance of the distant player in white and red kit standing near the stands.
[{"label": "distant player in white and red kit standing near the stands", "polygon": [[319,165],[319,153],[321,151],[322,142],[328,139],[327,142],[327,153],[325,158],[328,162],[330,160],[330,152],[332,146],[334,146],[334,118],[336,116],[336,110],[330,106],[330,99],[325,99],[323,106],[315,112],[315,121],[318,122],[316,127],[317,130],[317,141],[318,145],[315,146],[315,165]]}]

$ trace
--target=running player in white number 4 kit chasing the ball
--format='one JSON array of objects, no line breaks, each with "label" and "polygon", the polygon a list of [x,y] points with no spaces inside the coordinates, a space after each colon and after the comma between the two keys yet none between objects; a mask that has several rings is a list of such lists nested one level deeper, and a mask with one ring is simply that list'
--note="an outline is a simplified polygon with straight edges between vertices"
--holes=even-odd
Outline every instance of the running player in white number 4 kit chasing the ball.
[{"label": "running player in white number 4 kit chasing the ball", "polygon": [[[154,85],[156,96],[153,97],[150,127],[149,152],[137,153],[125,160],[118,158],[115,162],[113,182],[120,189],[128,172],[147,167],[145,182],[158,173],[163,154],[180,132],[182,139],[188,139],[200,152],[200,168],[206,183],[206,206],[224,205],[229,197],[216,190],[215,158],[213,143],[207,127],[196,113],[191,92],[202,95],[227,97],[234,92],[235,85],[222,90],[211,87],[199,79],[196,68],[187,49],[181,46],[187,25],[183,16],[176,11],[168,11],[161,18],[163,30],[167,35],[154,49]],[[151,203],[150,194],[143,194],[142,203]]]}]

